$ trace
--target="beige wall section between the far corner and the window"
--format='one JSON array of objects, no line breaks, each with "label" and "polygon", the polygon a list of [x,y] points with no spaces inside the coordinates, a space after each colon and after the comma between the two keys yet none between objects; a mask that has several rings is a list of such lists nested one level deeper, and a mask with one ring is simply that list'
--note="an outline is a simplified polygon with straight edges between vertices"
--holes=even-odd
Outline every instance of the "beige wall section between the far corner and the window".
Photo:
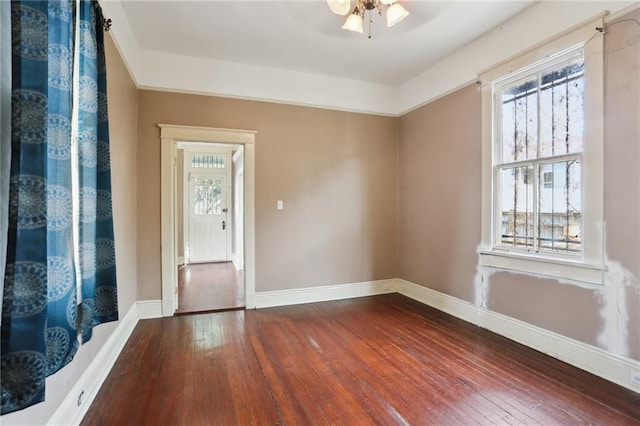
[{"label": "beige wall section between the far corner and the window", "polygon": [[480,240],[480,92],[400,119],[400,276],[472,301]]}]

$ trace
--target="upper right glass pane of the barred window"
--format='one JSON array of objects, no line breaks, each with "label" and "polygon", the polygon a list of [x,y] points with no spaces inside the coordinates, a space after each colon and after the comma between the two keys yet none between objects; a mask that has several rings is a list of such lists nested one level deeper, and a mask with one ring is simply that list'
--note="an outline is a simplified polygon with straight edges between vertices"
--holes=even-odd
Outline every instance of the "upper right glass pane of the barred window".
[{"label": "upper right glass pane of the barred window", "polygon": [[574,61],[541,76],[540,157],[582,152],[584,63]]}]

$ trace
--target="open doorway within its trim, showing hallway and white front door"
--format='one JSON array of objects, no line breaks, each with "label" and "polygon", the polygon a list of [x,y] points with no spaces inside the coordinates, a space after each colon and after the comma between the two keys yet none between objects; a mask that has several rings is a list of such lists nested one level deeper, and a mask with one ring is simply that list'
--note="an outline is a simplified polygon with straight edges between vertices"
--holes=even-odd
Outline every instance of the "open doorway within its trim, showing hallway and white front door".
[{"label": "open doorway within its trim, showing hallway and white front door", "polygon": [[[177,144],[178,303],[176,314],[243,309],[242,145]],[[233,161],[232,161],[233,158]],[[240,178],[239,178],[240,177]]]}]

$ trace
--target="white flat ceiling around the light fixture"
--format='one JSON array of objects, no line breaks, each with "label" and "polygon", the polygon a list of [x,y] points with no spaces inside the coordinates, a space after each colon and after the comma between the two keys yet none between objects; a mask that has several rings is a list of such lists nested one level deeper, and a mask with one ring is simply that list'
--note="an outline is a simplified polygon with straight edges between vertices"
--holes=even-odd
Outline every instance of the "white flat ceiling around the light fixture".
[{"label": "white flat ceiling around the light fixture", "polygon": [[398,86],[533,0],[400,3],[410,15],[387,28],[374,14],[368,39],[324,0],[122,1],[144,50]]}]

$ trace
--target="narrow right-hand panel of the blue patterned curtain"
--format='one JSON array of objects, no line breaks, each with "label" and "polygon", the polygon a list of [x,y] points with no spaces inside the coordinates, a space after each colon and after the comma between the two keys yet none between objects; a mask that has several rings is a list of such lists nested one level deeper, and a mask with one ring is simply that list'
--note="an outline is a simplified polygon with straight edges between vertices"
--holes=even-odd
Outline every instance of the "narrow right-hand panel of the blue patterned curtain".
[{"label": "narrow right-hand panel of the blue patterned curtain", "polygon": [[91,338],[94,326],[118,319],[102,19],[97,2],[81,1],[78,163],[83,342]]}]

